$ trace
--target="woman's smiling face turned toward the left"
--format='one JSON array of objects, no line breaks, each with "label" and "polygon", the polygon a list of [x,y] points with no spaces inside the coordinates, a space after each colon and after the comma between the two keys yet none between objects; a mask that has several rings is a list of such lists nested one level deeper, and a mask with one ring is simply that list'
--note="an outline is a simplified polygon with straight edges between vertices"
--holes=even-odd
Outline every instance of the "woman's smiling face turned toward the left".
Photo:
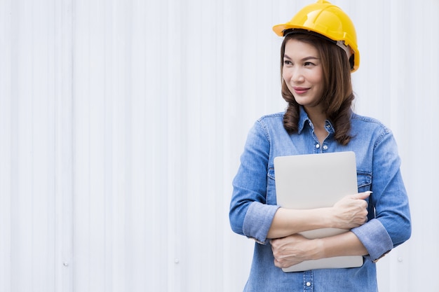
[{"label": "woman's smiling face turned toward the left", "polygon": [[282,77],[298,104],[318,106],[323,94],[323,68],[318,50],[309,43],[285,43]]}]

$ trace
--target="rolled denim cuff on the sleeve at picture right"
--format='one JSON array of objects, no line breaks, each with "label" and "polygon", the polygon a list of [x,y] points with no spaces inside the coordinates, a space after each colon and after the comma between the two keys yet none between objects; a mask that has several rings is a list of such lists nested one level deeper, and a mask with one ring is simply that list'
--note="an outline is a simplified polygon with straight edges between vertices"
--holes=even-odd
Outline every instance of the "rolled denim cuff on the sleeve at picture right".
[{"label": "rolled denim cuff on the sleeve at picture right", "polygon": [[389,233],[376,218],[357,228],[353,228],[351,231],[363,243],[374,262],[393,249],[393,242]]}]

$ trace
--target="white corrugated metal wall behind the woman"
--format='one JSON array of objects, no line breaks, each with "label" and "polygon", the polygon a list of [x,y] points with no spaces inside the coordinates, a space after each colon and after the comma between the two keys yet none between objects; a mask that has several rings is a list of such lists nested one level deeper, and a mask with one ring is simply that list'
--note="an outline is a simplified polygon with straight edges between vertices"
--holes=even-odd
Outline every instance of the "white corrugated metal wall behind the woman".
[{"label": "white corrugated metal wall behind the woman", "polygon": [[[246,134],[285,107],[271,27],[310,1],[1,0],[0,291],[241,291]],[[439,291],[439,2],[334,0],[359,113],[396,135],[413,235],[381,292]]]}]

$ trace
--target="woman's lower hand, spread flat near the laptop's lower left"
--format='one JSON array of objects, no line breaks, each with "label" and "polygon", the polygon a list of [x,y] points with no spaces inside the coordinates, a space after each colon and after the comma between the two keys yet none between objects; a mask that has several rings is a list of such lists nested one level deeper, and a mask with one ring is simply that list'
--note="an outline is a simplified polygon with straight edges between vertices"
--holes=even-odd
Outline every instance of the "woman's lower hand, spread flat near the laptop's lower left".
[{"label": "woman's lower hand, spread flat near the laptop's lower left", "polygon": [[271,239],[270,243],[274,256],[274,265],[281,268],[297,265],[304,260],[315,259],[321,250],[316,246],[318,241],[307,239],[299,234]]}]

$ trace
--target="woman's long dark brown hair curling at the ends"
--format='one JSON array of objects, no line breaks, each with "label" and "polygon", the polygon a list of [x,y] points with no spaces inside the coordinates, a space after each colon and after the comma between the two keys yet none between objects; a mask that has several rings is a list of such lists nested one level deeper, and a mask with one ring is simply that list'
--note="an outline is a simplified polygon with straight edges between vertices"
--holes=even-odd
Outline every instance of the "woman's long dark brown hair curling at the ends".
[{"label": "woman's long dark brown hair curling at the ends", "polygon": [[[351,105],[354,99],[351,83],[351,67],[348,57],[342,48],[319,36],[311,34],[288,34],[281,46],[281,76],[283,72],[283,57],[285,45],[290,39],[297,39],[314,46],[320,54],[323,67],[323,95],[320,103],[327,118],[335,128],[335,140],[346,145],[351,140]],[[299,123],[299,104],[288,89],[282,77],[282,97],[288,102],[288,108],[283,117],[283,126],[288,133],[297,132]]]}]

